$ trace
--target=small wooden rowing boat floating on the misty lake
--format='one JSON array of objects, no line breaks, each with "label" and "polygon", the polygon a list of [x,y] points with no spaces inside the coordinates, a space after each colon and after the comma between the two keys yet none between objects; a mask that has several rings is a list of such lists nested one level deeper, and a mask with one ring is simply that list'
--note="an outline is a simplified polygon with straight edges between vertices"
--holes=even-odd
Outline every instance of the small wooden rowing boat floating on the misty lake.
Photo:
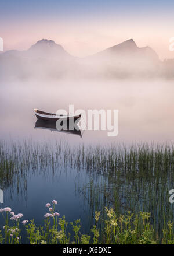
[{"label": "small wooden rowing boat floating on the misty lake", "polygon": [[74,122],[78,119],[81,118],[81,114],[79,115],[56,115],[52,113],[47,113],[41,110],[34,109],[34,113],[38,120],[43,120],[43,121],[51,121],[51,122],[56,122],[59,119],[64,119],[66,118],[67,121],[70,121],[70,119],[74,119]]}]

